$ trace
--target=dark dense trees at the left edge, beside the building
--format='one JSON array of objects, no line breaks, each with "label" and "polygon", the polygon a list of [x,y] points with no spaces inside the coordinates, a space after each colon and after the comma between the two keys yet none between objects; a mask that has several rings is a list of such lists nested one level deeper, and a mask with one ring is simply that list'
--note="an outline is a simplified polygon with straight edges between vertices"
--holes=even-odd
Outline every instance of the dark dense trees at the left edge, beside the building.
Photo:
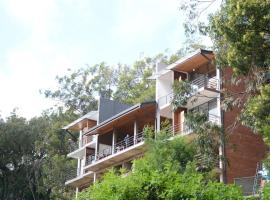
[{"label": "dark dense trees at the left edge, beside the building", "polygon": [[68,135],[60,127],[67,116],[44,114],[27,121],[14,113],[1,121],[1,199],[70,199],[74,191],[64,182],[76,163],[66,158]]}]

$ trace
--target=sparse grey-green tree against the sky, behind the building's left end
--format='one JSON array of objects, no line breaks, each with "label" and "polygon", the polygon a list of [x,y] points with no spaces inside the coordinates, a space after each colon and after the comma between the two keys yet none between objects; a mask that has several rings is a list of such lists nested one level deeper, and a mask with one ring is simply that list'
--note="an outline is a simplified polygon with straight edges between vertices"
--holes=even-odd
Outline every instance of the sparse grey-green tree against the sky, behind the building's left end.
[{"label": "sparse grey-green tree against the sky, behind the building's left end", "polygon": [[57,76],[56,80],[59,89],[45,90],[45,97],[58,100],[65,108],[82,115],[97,109],[96,96],[112,97],[116,70],[102,62],[63,77]]}]

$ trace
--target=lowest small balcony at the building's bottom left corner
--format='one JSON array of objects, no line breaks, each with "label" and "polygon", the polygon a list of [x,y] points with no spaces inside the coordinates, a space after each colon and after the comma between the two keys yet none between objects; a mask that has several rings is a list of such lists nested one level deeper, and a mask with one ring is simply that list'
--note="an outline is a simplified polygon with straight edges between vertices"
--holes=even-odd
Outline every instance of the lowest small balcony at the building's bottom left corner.
[{"label": "lowest small balcony at the building's bottom left corner", "polygon": [[[78,175],[79,174],[79,175]],[[93,172],[86,172],[80,174],[79,169],[68,172],[65,185],[72,187],[80,187],[82,185],[90,184],[94,180]]]}]

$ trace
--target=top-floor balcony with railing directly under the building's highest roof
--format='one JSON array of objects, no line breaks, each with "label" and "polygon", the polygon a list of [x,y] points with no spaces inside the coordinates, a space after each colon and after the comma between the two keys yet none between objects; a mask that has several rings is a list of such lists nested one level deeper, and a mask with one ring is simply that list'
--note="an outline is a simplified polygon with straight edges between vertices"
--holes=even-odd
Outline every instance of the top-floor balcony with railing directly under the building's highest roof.
[{"label": "top-floor balcony with railing directly under the building's highest roof", "polygon": [[[209,78],[207,75],[200,75],[198,78],[190,82],[193,92],[190,94],[190,98],[185,107],[192,108],[197,105],[203,104],[211,98],[218,97],[220,82],[219,79],[214,76]],[[158,99],[158,104],[161,110],[166,109],[172,102],[173,93],[169,93]]]}]

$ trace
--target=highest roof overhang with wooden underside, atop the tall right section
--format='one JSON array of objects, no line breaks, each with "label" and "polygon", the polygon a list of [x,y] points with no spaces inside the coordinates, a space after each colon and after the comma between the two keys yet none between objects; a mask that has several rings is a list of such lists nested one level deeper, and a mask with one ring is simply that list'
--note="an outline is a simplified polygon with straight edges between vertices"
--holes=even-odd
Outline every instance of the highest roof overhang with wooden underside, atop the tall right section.
[{"label": "highest roof overhang with wooden underside, atop the tall right section", "polygon": [[189,54],[175,63],[167,67],[168,70],[180,71],[180,72],[192,72],[204,65],[211,62],[214,59],[213,51],[198,49],[197,51]]}]

